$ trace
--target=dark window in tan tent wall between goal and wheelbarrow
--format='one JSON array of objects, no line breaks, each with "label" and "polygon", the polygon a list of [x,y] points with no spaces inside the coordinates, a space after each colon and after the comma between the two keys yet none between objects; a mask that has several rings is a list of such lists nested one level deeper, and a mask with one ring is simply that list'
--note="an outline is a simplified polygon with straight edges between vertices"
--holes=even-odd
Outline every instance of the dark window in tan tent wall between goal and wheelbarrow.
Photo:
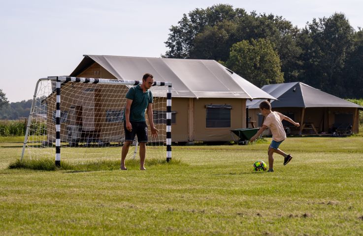
[{"label": "dark window in tan tent wall between goal and wheelbarrow", "polygon": [[230,128],[231,105],[206,105],[207,128]]}]

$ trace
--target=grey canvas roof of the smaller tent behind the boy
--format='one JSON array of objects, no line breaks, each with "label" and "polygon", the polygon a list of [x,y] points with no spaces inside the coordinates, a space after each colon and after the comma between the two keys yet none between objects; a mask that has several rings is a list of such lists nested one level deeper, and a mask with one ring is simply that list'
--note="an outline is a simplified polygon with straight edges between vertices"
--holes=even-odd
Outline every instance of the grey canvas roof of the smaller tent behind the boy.
[{"label": "grey canvas roof of the smaller tent behind the boy", "polygon": [[[352,107],[363,109],[362,106],[335,97],[301,82],[268,84],[264,85],[261,89],[278,99],[271,101],[271,107],[273,108]],[[246,105],[249,109],[259,108],[262,101],[247,101]]]}]

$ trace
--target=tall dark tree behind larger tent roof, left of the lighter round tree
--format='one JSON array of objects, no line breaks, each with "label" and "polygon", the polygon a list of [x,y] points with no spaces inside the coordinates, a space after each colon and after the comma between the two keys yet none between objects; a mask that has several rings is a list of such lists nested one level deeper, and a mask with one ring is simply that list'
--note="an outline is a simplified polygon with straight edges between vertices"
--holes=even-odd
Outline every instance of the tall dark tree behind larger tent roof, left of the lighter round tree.
[{"label": "tall dark tree behind larger tent roof, left of the lighter round tree", "polygon": [[218,4],[195,9],[172,26],[165,57],[212,59],[226,62],[231,45],[242,40],[268,39],[277,50],[286,81],[297,81],[301,49],[299,29],[290,21],[273,14],[248,14],[242,8]]}]

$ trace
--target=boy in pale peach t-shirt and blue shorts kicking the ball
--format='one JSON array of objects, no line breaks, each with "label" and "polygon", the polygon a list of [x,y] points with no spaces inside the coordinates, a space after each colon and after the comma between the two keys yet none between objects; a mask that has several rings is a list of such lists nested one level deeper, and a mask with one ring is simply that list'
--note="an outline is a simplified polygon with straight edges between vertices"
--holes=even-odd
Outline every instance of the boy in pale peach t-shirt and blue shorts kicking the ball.
[{"label": "boy in pale peach t-shirt and blue shorts kicking the ball", "polygon": [[285,157],[284,165],[289,163],[290,160],[293,158],[290,154],[287,155],[279,149],[280,144],[286,139],[286,133],[281,121],[285,119],[290,123],[296,125],[297,127],[300,126],[300,124],[295,122],[291,118],[282,115],[279,112],[272,112],[271,104],[267,101],[263,101],[260,103],[260,111],[262,115],[265,116],[264,124],[259,129],[259,131],[250,139],[250,142],[255,141],[256,138],[259,137],[266,128],[270,128],[272,133],[272,142],[268,147],[268,172],[273,172],[273,153],[277,153]]}]

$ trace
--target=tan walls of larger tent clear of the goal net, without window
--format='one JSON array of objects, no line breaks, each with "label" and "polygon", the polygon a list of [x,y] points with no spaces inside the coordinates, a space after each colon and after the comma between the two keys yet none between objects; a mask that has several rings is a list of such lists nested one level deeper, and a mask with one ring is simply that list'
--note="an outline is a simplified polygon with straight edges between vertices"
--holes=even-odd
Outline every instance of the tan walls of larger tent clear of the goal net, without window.
[{"label": "tan walls of larger tent clear of the goal net, without window", "polygon": [[[116,79],[99,64],[94,63],[79,77],[99,75],[105,79]],[[137,78],[135,78],[137,79]],[[141,80],[141,78],[140,78]],[[207,128],[206,108],[208,104],[228,104],[232,106],[231,127]],[[244,128],[246,99],[238,98],[172,98],[171,110],[176,112],[176,122],[171,125],[173,142],[188,141],[230,141],[231,129]]]}]

